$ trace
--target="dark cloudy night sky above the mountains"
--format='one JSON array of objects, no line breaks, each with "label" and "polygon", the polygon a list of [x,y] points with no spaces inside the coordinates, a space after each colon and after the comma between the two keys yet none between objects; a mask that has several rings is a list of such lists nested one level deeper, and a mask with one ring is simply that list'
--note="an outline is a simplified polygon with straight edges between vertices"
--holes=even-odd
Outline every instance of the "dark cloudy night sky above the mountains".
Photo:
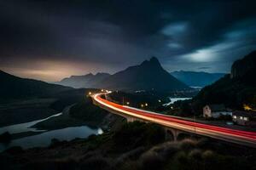
[{"label": "dark cloudy night sky above the mountains", "polygon": [[151,56],[167,71],[229,72],[256,49],[256,3],[244,0],[2,0],[0,21],[0,69],[44,81]]}]

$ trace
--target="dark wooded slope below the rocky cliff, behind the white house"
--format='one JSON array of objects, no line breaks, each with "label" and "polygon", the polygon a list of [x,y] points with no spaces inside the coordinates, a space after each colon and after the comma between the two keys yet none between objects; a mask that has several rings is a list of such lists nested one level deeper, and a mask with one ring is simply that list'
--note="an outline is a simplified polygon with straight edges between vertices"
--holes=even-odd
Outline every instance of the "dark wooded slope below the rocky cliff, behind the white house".
[{"label": "dark wooded slope below the rocky cliff, behind the white house", "polygon": [[197,109],[207,104],[224,104],[233,109],[242,109],[244,104],[255,107],[256,88],[253,84],[231,79],[230,75],[227,75],[203,88],[193,102]]}]

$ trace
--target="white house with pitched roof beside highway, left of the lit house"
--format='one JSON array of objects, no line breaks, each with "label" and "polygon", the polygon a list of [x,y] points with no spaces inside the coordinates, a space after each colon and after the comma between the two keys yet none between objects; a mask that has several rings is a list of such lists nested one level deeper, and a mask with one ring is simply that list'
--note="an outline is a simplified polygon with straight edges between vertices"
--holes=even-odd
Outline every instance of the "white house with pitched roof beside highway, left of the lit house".
[{"label": "white house with pitched roof beside highway, left of the lit house", "polygon": [[232,116],[232,111],[226,109],[224,105],[206,105],[203,107],[203,116],[218,118],[221,115],[230,115]]}]

